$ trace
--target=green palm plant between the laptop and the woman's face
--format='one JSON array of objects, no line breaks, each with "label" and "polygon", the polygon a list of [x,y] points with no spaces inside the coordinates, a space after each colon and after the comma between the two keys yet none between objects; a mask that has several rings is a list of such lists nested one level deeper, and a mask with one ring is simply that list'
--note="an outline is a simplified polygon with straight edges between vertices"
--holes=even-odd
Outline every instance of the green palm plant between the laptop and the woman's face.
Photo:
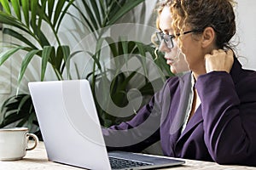
[{"label": "green palm plant between the laptop and the woman's face", "polygon": [[[122,35],[119,37],[118,42],[114,42],[111,37],[104,37],[105,29],[108,26],[113,26],[117,21],[124,16],[128,11],[132,8],[136,7],[137,4],[144,2],[144,0],[137,1],[86,1],[82,0],[81,3],[83,5],[79,6],[78,10],[82,15],[82,20],[84,26],[96,37],[96,51],[95,53],[90,54],[91,59],[94,59],[92,71],[88,73],[86,76],[87,79],[90,79],[91,88],[93,90],[93,95],[96,100],[96,109],[101,118],[102,126],[109,127],[113,124],[117,124],[119,122],[129,120],[132,116],[135,116],[136,113],[131,112],[130,116],[113,116],[119,115],[120,113],[113,113],[112,111],[106,111],[106,107],[111,107],[109,104],[109,100],[113,100],[114,105],[118,107],[125,107],[129,105],[129,101],[127,99],[127,94],[130,92],[133,86],[131,85],[131,79],[139,76],[137,71],[127,72],[119,72],[119,70],[105,69],[104,65],[100,64],[102,59],[102,43],[104,41],[108,42],[108,46],[110,49],[109,58],[116,59],[119,56],[124,56],[124,62],[128,62],[131,59],[131,56],[137,54],[141,56],[139,59],[141,65],[143,66],[144,75],[147,75],[148,71],[146,69],[147,65],[145,65],[145,59],[147,58],[147,54],[155,59],[156,56],[154,54],[155,47],[152,43],[144,44],[143,42],[135,42],[124,40]],[[82,10],[82,8],[84,10]],[[90,8],[93,7],[93,8]],[[119,7],[119,8],[118,8]],[[89,16],[89,17],[88,17]],[[96,20],[95,20],[96,19]],[[150,35],[147,35],[150,36]],[[154,62],[156,65],[159,65],[161,68],[160,72],[166,72],[168,77],[172,76],[172,72],[170,71],[169,65],[166,65],[166,60],[161,57],[155,59]],[[115,63],[115,65],[117,65]],[[112,75],[113,77],[109,77]],[[160,76],[156,82],[164,82],[166,77]],[[152,82],[150,82],[147,77],[144,79],[143,85],[140,87],[136,87],[138,91],[143,95],[143,103],[146,103],[148,100],[148,96],[152,96],[154,94],[154,89],[152,87]],[[111,84],[110,87],[106,87],[105,85],[101,85],[101,83]],[[160,88],[160,87],[159,87]],[[101,98],[100,101],[96,98],[97,92],[100,91]],[[109,97],[110,96],[110,99]],[[136,98],[137,96],[133,96],[132,98]],[[99,103],[102,103],[101,105]],[[102,105],[105,105],[105,108],[102,108]],[[123,113],[124,114],[124,113]]]}]

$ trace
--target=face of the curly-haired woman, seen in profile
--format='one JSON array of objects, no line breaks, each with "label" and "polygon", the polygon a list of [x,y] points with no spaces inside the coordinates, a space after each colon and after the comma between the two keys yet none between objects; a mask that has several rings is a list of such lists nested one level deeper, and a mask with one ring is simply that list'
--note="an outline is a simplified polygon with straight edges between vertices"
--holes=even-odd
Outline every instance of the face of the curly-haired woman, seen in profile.
[{"label": "face of the curly-haired woman, seen in profile", "polygon": [[[159,17],[160,30],[165,34],[173,35],[172,30],[172,14],[169,7],[163,8]],[[187,28],[185,31],[190,31]],[[201,42],[199,39],[192,37],[192,33],[185,34],[181,38],[183,48],[180,50],[177,47],[177,38],[173,39],[174,47],[166,47],[165,42],[160,43],[160,51],[165,53],[166,63],[170,65],[173,73],[183,71],[201,71],[204,66],[204,58],[202,57]],[[181,52],[182,51],[182,52]]]}]

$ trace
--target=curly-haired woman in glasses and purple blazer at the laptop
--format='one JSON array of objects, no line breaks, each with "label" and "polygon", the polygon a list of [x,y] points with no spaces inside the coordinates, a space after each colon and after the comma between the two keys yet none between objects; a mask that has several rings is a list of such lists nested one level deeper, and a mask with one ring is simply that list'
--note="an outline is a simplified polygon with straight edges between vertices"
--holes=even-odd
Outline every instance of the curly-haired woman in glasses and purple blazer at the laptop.
[{"label": "curly-haired woman in glasses and purple blazer at the laptop", "polygon": [[191,72],[169,78],[130,122],[103,129],[108,150],[141,151],[160,140],[165,156],[256,166],[256,72],[243,70],[230,46],[234,4],[160,6],[160,50],[169,64],[180,50]]}]

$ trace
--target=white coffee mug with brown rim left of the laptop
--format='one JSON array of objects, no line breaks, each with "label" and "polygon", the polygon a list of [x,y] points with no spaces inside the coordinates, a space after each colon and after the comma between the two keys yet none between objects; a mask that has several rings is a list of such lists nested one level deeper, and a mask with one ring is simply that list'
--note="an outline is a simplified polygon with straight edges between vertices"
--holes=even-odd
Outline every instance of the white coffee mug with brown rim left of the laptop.
[{"label": "white coffee mug with brown rim left of the laptop", "polygon": [[[29,137],[34,144],[27,146]],[[28,133],[27,127],[0,128],[0,160],[15,161],[26,156],[26,150],[33,150],[38,144],[38,137]]]}]

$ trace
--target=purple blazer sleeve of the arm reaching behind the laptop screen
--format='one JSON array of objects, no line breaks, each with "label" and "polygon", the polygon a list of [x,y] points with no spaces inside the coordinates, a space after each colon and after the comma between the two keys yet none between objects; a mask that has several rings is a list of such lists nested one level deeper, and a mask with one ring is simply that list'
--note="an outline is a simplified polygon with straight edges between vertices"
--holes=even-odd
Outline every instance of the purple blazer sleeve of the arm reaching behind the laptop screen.
[{"label": "purple blazer sleeve of the arm reaching behind the laptop screen", "polygon": [[130,122],[103,128],[102,132],[108,150],[138,152],[159,141],[160,123],[167,115],[171,104],[171,94],[176,91],[178,83],[177,77],[169,78],[161,90],[150,99],[148,105],[143,106]]}]

